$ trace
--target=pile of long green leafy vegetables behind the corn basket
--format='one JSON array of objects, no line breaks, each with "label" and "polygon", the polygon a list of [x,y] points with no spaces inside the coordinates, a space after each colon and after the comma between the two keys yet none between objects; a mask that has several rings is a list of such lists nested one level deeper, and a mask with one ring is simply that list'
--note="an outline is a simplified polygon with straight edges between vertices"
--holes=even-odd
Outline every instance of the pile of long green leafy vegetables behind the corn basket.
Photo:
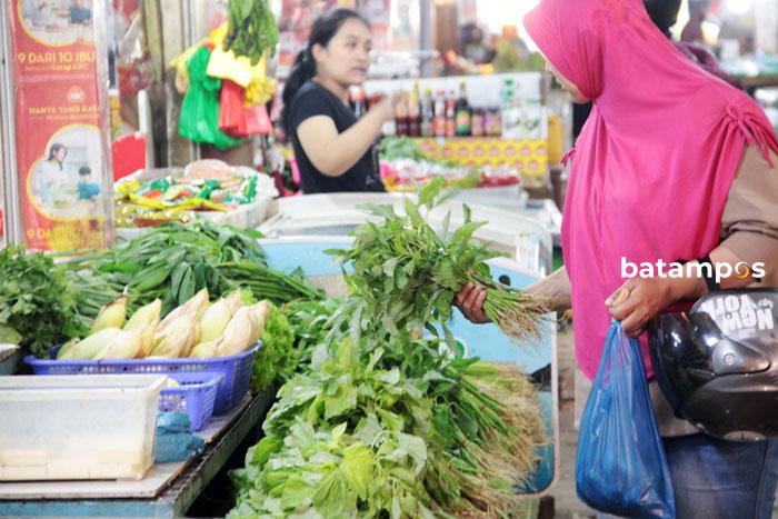
[{"label": "pile of long green leafy vegetables behind the corn basket", "polygon": [[301,272],[288,275],[269,268],[258,238],[259,232],[207,220],[189,226],[171,223],[60,268],[66,271],[77,296],[78,315],[87,326],[124,287],[129,287],[130,311],[160,299],[162,317],[203,288],[213,297],[243,289],[257,300],[276,303],[322,297]]}]

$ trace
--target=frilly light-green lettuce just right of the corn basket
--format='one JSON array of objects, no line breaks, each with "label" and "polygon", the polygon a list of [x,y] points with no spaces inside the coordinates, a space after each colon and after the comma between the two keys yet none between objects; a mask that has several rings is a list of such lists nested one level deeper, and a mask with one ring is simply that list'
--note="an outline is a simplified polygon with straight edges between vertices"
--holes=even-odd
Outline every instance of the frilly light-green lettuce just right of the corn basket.
[{"label": "frilly light-green lettuce just right of the corn basket", "polygon": [[297,368],[295,332],[287,317],[273,306],[265,322],[262,347],[257,352],[251,373],[251,390],[260,392],[273,381],[285,381]]}]

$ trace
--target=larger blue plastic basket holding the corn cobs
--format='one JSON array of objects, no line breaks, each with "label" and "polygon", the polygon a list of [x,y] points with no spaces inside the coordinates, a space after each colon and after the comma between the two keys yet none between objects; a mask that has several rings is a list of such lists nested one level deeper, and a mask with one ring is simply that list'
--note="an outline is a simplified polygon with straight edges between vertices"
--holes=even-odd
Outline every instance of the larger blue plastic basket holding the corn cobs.
[{"label": "larger blue plastic basket holding the corn cobs", "polygon": [[262,343],[257,342],[242,353],[207,359],[42,360],[28,356],[24,362],[36,375],[221,373],[223,378],[213,406],[213,415],[219,415],[240,403],[249,392],[253,359],[261,347]]}]

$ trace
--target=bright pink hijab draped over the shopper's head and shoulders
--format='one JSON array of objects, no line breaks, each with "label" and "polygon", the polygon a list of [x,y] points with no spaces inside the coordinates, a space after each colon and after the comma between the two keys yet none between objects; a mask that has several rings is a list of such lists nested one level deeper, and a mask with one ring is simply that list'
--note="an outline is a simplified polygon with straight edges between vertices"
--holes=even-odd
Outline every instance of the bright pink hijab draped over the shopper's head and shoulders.
[{"label": "bright pink hijab draped over the shopper's head and shoulders", "polygon": [[621,258],[656,263],[710,252],[746,143],[772,166],[778,139],[750,98],[674,47],[641,0],[542,0],[523,22],[594,100],[562,222],[576,357],[594,379],[610,323],[605,300],[625,281]]}]

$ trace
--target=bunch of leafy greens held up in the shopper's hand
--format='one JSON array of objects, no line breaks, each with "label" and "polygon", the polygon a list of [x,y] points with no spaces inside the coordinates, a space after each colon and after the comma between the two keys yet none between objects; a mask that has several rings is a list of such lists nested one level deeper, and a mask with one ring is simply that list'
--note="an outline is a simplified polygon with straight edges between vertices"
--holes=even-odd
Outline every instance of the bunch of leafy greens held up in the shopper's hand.
[{"label": "bunch of leafy greens held up in the shopper's hand", "polygon": [[[447,321],[457,292],[468,282],[486,289],[486,316],[515,340],[540,336],[540,322],[548,309],[543,301],[492,280],[487,260],[503,256],[471,240],[485,222],[473,222],[465,207],[465,222],[450,231],[450,214],[437,232],[422,216],[445,196],[445,181],[436,179],[419,192],[419,201],[405,201],[405,216],[391,206],[362,206],[380,217],[352,231],[350,249],[328,251],[342,265],[351,301],[336,317],[333,330],[348,326],[352,339],[362,333],[372,339],[409,333],[425,327],[453,346]],[[348,272],[346,266],[353,267]]]}]

